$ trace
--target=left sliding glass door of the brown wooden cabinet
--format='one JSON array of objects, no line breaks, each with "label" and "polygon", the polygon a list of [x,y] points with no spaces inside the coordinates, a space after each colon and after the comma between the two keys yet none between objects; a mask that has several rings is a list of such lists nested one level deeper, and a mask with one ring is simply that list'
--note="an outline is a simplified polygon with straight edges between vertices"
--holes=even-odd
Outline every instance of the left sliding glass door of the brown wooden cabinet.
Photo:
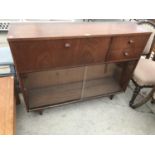
[{"label": "left sliding glass door of the brown wooden cabinet", "polygon": [[29,108],[79,100],[84,67],[29,73],[23,79]]}]

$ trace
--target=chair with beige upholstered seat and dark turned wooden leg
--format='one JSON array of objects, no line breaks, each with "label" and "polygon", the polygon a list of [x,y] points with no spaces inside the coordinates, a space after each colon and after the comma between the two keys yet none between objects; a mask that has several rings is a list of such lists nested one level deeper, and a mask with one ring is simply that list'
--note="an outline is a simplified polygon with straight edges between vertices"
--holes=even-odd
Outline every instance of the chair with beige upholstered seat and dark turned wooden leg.
[{"label": "chair with beige upholstered seat and dark turned wooden leg", "polygon": [[155,86],[155,61],[153,61],[155,55],[154,58],[150,59],[152,51],[154,50],[154,44],[155,36],[154,33],[152,33],[143,51],[143,55],[146,56],[146,58],[140,58],[131,79],[135,85],[133,96],[129,102],[132,108],[140,106],[135,104],[134,101],[142,88],[153,88],[153,86]]}]

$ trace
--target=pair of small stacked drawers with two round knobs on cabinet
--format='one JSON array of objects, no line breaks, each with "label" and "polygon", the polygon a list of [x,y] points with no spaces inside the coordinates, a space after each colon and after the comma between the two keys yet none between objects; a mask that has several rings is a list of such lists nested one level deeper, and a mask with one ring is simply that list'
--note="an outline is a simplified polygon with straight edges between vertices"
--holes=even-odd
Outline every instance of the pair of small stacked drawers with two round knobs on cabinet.
[{"label": "pair of small stacked drawers with two round knobs on cabinet", "polygon": [[113,37],[107,61],[139,58],[149,35]]}]

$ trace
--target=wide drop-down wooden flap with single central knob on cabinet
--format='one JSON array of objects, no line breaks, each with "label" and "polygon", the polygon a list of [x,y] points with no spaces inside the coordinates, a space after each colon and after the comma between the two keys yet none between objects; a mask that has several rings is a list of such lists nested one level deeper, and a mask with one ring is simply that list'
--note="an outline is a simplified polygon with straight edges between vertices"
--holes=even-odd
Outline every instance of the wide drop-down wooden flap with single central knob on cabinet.
[{"label": "wide drop-down wooden flap with single central knob on cabinet", "polygon": [[19,72],[104,62],[110,37],[11,43]]}]

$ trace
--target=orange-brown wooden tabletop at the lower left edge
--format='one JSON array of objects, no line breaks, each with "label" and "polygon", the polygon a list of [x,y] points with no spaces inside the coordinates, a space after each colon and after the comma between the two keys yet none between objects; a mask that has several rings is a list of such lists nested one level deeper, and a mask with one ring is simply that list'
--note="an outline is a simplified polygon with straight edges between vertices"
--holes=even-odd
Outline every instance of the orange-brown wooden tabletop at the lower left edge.
[{"label": "orange-brown wooden tabletop at the lower left edge", "polygon": [[14,79],[0,78],[0,135],[15,132]]}]

